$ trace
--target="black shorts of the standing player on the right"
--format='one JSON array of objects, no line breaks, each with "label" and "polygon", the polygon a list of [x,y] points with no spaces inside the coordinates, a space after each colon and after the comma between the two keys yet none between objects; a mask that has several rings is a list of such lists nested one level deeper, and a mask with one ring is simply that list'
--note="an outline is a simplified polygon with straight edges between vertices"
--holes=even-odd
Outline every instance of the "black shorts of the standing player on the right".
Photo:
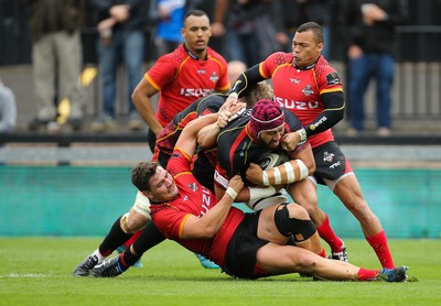
[{"label": "black shorts of the standing player on the right", "polygon": [[315,160],[314,177],[319,184],[326,185],[323,178],[334,181],[346,173],[346,156],[336,142],[326,142],[312,149],[312,152]]}]

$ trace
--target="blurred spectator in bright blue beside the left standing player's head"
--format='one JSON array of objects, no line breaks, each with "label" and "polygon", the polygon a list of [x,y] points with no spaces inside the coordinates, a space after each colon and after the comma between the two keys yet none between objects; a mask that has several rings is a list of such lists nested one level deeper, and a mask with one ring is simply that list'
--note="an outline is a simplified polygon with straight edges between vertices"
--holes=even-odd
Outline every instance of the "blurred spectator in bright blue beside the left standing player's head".
[{"label": "blurred spectator in bright blue beside the left standing player's head", "polygon": [[155,55],[161,56],[175,50],[183,37],[185,0],[151,0],[157,2],[158,24],[154,33]]}]

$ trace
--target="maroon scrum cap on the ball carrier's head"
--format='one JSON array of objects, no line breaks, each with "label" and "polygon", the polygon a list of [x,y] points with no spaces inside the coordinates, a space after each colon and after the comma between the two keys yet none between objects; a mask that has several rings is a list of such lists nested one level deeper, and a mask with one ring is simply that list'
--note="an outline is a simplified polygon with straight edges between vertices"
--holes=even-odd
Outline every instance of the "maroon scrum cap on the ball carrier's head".
[{"label": "maroon scrum cap on the ball carrier's head", "polygon": [[252,134],[259,138],[262,131],[279,129],[284,124],[284,114],[278,102],[269,99],[259,100],[251,110],[249,125]]}]

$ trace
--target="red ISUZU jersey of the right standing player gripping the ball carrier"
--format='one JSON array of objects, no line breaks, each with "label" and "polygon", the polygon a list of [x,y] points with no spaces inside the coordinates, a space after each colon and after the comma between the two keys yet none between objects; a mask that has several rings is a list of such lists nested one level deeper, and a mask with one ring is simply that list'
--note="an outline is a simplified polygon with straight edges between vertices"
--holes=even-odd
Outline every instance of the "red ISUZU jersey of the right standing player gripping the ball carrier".
[{"label": "red ISUZU jersey of the right standing player gripping the ball carrier", "polygon": [[[260,63],[262,77],[272,78],[275,100],[291,110],[305,127],[310,124],[325,108],[320,95],[343,91],[336,70],[323,56],[316,63],[304,68],[295,68],[292,53],[273,53]],[[332,130],[308,138],[312,147],[334,140]]]}]

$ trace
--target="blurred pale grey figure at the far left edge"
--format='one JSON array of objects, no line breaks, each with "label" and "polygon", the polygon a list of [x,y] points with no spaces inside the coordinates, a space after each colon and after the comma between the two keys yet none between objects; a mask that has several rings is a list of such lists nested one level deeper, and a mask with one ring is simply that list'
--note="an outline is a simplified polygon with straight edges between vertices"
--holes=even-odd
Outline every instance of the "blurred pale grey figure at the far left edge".
[{"label": "blurred pale grey figure at the far left edge", "polygon": [[17,124],[17,105],[13,91],[0,79],[0,134],[11,133]]}]

